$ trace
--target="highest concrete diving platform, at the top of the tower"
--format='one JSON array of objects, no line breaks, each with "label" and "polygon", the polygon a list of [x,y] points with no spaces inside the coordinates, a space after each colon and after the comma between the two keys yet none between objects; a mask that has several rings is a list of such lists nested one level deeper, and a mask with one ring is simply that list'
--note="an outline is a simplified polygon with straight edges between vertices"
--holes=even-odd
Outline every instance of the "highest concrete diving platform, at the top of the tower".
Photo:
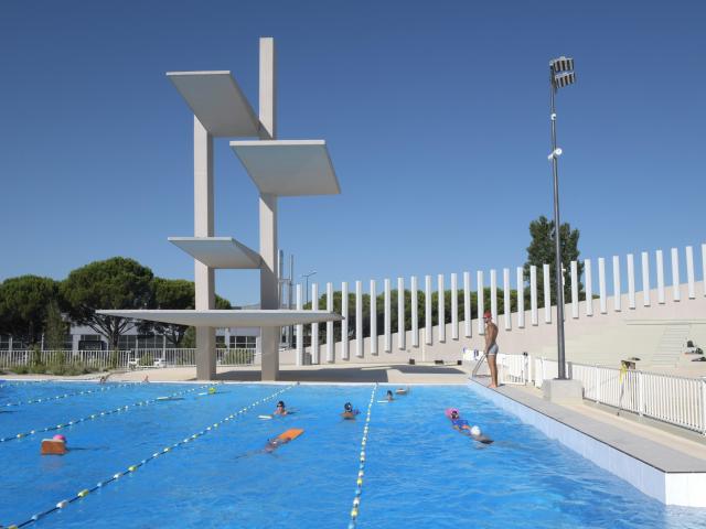
[{"label": "highest concrete diving platform, at the top of the tower", "polygon": [[231,72],[169,72],[167,77],[212,136],[259,136],[260,121]]}]

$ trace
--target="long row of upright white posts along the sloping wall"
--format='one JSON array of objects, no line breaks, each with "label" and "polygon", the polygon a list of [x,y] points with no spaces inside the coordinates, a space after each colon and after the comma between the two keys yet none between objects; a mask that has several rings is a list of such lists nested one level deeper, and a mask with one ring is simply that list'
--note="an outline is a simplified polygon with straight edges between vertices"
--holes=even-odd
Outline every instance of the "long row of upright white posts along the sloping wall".
[{"label": "long row of upright white posts along the sloping wall", "polygon": [[[706,244],[702,244],[702,281],[703,288],[706,289]],[[682,299],[682,289],[681,289],[681,274],[680,274],[680,251],[677,248],[671,249],[671,259],[672,259],[672,301],[678,302]],[[687,296],[688,299],[696,298],[696,279],[695,279],[695,268],[694,268],[694,249],[692,246],[687,246],[685,248],[685,261],[686,261],[686,285],[687,285]],[[641,253],[641,264],[642,264],[642,304],[643,306],[651,306],[653,300],[650,298],[650,290],[652,289],[651,281],[651,263],[650,263],[650,253],[643,251]],[[665,288],[665,272],[664,272],[664,255],[662,250],[656,250],[654,252],[654,266],[655,266],[655,276],[656,276],[656,303],[664,304],[666,303],[666,288]],[[635,295],[635,266],[634,266],[634,256],[632,253],[628,253],[625,256],[625,267],[628,270],[627,274],[627,283],[628,283],[628,309],[635,309],[637,306],[637,295]],[[570,315],[574,319],[580,317],[579,314],[579,291],[578,291],[578,263],[576,261],[571,261],[569,264],[569,273],[571,278],[571,295],[570,295],[570,304],[571,312]],[[503,313],[503,325],[505,331],[512,331],[513,322],[511,316],[511,270],[509,268],[503,269],[502,273],[502,289],[503,289],[503,301],[504,301],[504,313]],[[463,336],[472,337],[472,328],[471,328],[471,273],[463,272]],[[544,323],[552,323],[552,306],[550,306],[550,281],[549,281],[549,264],[544,264],[542,267],[542,280],[543,280],[543,289],[544,289]],[[515,316],[515,324],[518,328],[525,327],[525,306],[524,306],[524,288],[525,288],[526,278],[524,276],[523,267],[517,267],[515,270],[515,289],[516,289],[516,302],[517,302],[517,312]],[[598,300],[593,300],[593,271],[592,271],[592,261],[590,259],[586,259],[584,261],[584,287],[585,287],[585,301],[584,301],[584,311],[586,316],[593,315],[593,304],[595,301],[598,301],[598,310],[601,314],[608,314],[608,294],[607,294],[607,277],[606,277],[606,259],[598,258]],[[613,256],[612,258],[612,283],[613,283],[613,295],[612,295],[612,310],[614,312],[622,311],[622,300],[621,294],[623,292],[623,283],[622,283],[622,274],[621,274],[621,260],[619,256]],[[384,350],[386,353],[391,353],[392,345],[392,328],[391,328],[391,280],[385,279],[383,281],[384,284]],[[405,278],[397,278],[397,348],[404,350],[406,347],[405,343]],[[410,284],[410,296],[411,296],[411,346],[419,347],[419,319],[417,314],[417,292],[418,292],[418,282],[417,277],[413,276],[409,281]],[[371,303],[371,336],[377,336],[377,304],[376,304],[376,281],[370,281],[370,303]],[[431,325],[431,285],[432,285],[432,277],[425,276],[425,344],[432,345],[432,325]],[[475,274],[475,290],[478,292],[478,314],[482,314],[485,310],[485,300],[484,298],[484,274],[482,270],[479,270]],[[443,274],[438,274],[437,277],[437,292],[438,292],[438,341],[446,342],[446,325],[443,322],[445,319],[445,302],[446,302],[446,280]],[[341,359],[347,360],[350,359],[350,348],[349,341],[349,304],[346,303],[349,299],[349,283],[341,283],[341,293],[342,293],[342,316],[343,321],[341,322]],[[706,290],[699,293],[699,295],[706,295]],[[539,324],[539,307],[537,302],[537,267],[532,266],[530,268],[530,317],[532,325]],[[319,287],[317,283],[311,285],[311,299],[312,299],[312,309],[318,309],[318,300],[319,300]],[[327,310],[333,311],[333,283],[327,283]],[[458,328],[458,274],[451,273],[451,339],[459,339],[459,328]],[[301,310],[303,307],[303,299],[302,299],[302,288],[301,284],[297,285],[297,309]],[[493,315],[493,321],[498,322],[498,273],[495,270],[490,271],[490,311]],[[355,347],[355,356],[362,358],[364,356],[363,350],[363,283],[361,281],[355,281],[355,315],[356,315],[356,328],[355,328],[355,338],[356,338],[356,347]],[[304,347],[303,347],[303,325],[297,325],[297,365],[303,364],[304,357]],[[481,317],[478,319],[478,333],[483,334],[483,320]],[[377,355],[377,341],[371,339],[371,350],[370,354]],[[319,364],[320,360],[320,350],[319,350],[319,325],[312,324],[311,328],[311,363]],[[333,342],[333,323],[327,323],[327,344],[325,344],[325,361],[333,363],[334,361],[334,342]]]}]

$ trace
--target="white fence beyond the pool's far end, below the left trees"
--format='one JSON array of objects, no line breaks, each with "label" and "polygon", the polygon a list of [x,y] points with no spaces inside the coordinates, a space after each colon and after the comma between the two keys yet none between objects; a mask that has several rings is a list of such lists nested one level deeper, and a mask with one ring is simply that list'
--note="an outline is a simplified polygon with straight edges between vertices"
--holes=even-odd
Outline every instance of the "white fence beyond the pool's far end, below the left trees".
[{"label": "white fence beyond the pool's far end, below the left trees", "polygon": [[[260,357],[255,349],[216,349],[218,366],[259,365]],[[96,370],[139,369],[152,367],[193,367],[196,365],[196,349],[137,349],[137,350],[0,350],[0,368],[17,366],[75,365]]]}]

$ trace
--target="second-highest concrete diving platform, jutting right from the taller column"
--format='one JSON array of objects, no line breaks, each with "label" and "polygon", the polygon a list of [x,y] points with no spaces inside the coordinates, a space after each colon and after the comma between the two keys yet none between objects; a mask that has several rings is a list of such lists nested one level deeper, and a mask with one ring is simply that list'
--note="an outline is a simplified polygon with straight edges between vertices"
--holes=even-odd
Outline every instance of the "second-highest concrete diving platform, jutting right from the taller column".
[{"label": "second-highest concrete diving platform, jutting right from the taller column", "polygon": [[232,141],[231,149],[260,193],[277,196],[341,193],[324,140]]}]

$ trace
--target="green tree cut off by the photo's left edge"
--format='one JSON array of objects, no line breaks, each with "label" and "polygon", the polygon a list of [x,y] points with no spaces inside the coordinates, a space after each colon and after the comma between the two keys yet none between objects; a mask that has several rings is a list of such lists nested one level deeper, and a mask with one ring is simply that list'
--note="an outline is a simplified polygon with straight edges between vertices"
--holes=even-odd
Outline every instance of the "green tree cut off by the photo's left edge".
[{"label": "green tree cut off by the photo's left edge", "polygon": [[0,284],[0,333],[29,346],[41,339],[46,311],[57,298],[56,281],[38,276],[6,279]]}]

